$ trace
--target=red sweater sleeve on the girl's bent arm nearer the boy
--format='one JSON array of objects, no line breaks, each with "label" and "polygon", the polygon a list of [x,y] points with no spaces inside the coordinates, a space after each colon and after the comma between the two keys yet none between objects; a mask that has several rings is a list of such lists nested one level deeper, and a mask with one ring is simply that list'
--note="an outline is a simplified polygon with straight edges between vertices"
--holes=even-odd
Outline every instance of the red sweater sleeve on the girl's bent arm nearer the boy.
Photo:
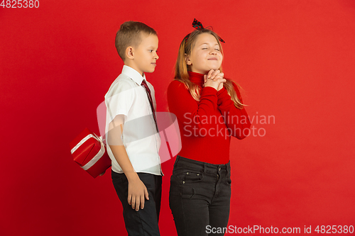
[{"label": "red sweater sleeve on the girl's bent arm nearer the boy", "polygon": [[[217,90],[205,87],[201,91],[200,101],[196,101],[190,91],[178,81],[173,81],[167,91],[169,111],[174,113],[184,126],[184,132],[200,129],[209,129],[210,123],[207,118],[217,111]],[[191,133],[191,132],[190,132]]]}]

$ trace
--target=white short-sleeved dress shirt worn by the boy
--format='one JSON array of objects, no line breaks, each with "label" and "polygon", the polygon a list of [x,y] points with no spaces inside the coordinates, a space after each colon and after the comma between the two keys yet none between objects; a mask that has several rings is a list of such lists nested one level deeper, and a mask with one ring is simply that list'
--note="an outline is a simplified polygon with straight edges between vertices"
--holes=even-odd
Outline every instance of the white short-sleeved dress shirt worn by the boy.
[{"label": "white short-sleeved dress shirt worn by the boy", "polygon": [[[146,89],[141,86],[143,77],[135,69],[124,65],[121,74],[111,84],[105,95],[107,118],[105,133],[109,135],[109,123],[117,115],[124,115],[124,130],[121,135],[129,160],[136,172],[163,175],[160,167],[160,136],[155,128],[155,121]],[[151,83],[154,110],[156,111],[155,93]],[[106,137],[109,140],[109,137]],[[112,161],[112,170],[124,173],[117,163],[109,145],[107,152]]]}]

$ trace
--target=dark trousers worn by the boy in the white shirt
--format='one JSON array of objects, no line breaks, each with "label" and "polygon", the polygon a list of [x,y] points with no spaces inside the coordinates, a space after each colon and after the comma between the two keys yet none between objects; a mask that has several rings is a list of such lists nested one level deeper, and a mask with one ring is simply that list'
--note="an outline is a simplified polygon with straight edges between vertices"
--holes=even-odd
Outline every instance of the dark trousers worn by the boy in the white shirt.
[{"label": "dark trousers worn by the boy in the white shirt", "polygon": [[129,182],[125,174],[111,171],[112,183],[124,208],[124,223],[129,236],[159,236],[159,213],[162,177],[154,174],[137,173],[146,185],[149,200],[145,200],[143,210],[133,210],[127,202]]}]

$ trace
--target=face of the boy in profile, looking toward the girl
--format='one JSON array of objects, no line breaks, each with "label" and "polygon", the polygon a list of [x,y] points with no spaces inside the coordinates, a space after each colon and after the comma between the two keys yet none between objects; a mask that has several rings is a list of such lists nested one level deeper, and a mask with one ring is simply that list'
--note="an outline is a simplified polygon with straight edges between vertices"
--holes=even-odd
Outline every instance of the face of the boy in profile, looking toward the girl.
[{"label": "face of the boy in profile, looking toward the girl", "polygon": [[151,73],[155,70],[156,60],[159,58],[157,54],[158,37],[142,33],[141,38],[141,44],[134,47],[131,66],[143,76],[143,72]]}]

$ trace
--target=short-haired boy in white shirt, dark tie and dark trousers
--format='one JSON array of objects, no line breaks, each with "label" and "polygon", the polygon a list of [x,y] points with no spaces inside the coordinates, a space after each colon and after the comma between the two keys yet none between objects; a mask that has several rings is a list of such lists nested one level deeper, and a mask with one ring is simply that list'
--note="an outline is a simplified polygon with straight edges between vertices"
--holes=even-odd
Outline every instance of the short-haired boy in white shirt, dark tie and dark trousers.
[{"label": "short-haired boy in white shirt, dark tie and dark trousers", "polygon": [[112,182],[129,235],[160,235],[160,136],[154,89],[145,75],[155,70],[158,36],[144,23],[127,21],[116,33],[115,44],[124,67],[105,95]]}]

